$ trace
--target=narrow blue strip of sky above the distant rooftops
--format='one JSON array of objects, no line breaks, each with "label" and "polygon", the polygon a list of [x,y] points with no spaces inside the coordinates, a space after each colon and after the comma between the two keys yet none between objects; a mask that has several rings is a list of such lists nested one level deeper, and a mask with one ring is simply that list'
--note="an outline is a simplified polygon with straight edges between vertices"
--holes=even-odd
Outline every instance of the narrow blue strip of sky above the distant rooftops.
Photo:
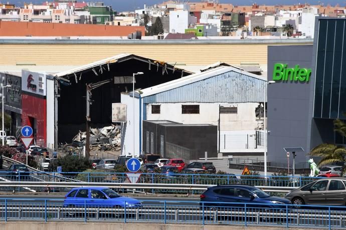
[{"label": "narrow blue strip of sky above the distant rooftops", "polygon": [[[10,2],[14,3],[18,6],[23,6],[24,2],[31,2],[33,4],[41,4],[45,0],[0,0],[0,2]],[[53,1],[53,0],[48,0]],[[83,0],[78,0],[83,1]],[[84,0],[84,1],[91,1],[91,0]],[[162,3],[164,0],[93,0],[93,1],[103,1],[105,5],[111,5],[113,10],[116,10],[118,12],[121,11],[130,11],[135,10],[139,8],[143,8],[144,4],[146,5],[153,5],[157,3]],[[187,1],[187,0],[181,0],[181,1]],[[190,0],[190,2],[199,1],[199,0]],[[266,5],[275,5],[275,4],[298,4],[303,2],[308,2],[309,4],[319,4],[323,3],[324,5],[330,4],[340,4],[341,6],[346,5],[346,0],[219,0],[220,3],[232,3],[234,5],[251,5],[252,3],[257,4],[266,4]]]}]

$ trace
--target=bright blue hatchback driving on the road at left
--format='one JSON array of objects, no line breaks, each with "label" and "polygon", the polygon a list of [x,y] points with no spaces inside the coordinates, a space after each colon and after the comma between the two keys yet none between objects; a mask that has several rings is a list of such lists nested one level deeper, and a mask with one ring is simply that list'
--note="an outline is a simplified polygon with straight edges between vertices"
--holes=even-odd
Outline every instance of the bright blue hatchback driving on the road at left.
[{"label": "bright blue hatchback driving on the road at left", "polygon": [[[76,210],[73,207],[125,207],[140,208],[141,202],[135,198],[121,196],[108,187],[77,187],[71,189],[64,197],[64,206],[69,207],[67,212],[74,215]],[[117,210],[115,210],[117,211]]]}]

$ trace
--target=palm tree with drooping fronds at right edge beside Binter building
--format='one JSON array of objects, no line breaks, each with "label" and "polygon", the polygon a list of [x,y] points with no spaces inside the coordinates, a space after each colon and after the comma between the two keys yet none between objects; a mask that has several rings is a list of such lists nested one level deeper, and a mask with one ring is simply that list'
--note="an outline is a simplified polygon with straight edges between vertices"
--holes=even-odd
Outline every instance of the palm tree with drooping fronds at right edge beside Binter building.
[{"label": "palm tree with drooping fronds at right edge beside Binter building", "polygon": [[[335,119],[334,131],[341,134],[343,137],[346,137],[346,124],[339,120]],[[336,162],[344,162],[346,158],[346,148],[342,145],[335,145],[329,143],[322,143],[314,147],[310,153],[311,156],[319,156],[321,160],[318,163],[318,166]]]}]

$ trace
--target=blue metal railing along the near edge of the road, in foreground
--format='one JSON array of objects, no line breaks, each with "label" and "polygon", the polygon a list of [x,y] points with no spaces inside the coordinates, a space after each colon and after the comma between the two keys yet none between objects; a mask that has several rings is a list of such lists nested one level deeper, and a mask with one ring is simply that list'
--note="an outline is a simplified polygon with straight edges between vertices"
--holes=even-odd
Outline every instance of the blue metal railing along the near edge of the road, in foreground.
[{"label": "blue metal railing along the near edge of the road, in foreground", "polygon": [[[100,201],[101,202],[101,201]],[[140,206],[102,203],[64,206],[63,199],[0,199],[3,221],[122,221],[155,223],[271,225],[282,227],[346,228],[345,206],[268,203],[142,200]],[[215,205],[215,206],[214,206]]]}]

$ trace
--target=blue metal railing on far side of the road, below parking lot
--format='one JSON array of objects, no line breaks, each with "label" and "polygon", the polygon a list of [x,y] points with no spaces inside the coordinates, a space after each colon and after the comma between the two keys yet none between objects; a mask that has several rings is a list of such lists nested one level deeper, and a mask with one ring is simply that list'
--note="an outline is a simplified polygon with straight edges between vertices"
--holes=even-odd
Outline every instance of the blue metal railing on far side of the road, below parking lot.
[{"label": "blue metal railing on far side of the road, below parking lot", "polygon": [[[18,172],[0,171],[0,179],[11,181],[83,181],[83,182],[129,182],[126,173],[120,172]],[[253,186],[299,187],[320,177],[234,175],[234,174],[192,174],[192,173],[141,173],[138,183],[178,184],[232,184],[242,183]]]}]

